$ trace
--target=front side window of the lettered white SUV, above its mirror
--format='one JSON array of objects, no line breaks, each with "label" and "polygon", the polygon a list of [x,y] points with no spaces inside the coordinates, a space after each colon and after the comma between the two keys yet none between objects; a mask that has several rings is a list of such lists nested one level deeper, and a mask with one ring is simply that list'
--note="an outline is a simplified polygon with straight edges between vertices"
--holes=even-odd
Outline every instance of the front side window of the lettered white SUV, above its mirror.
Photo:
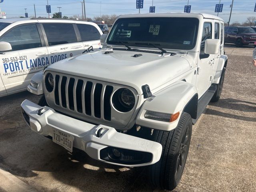
[{"label": "front side window of the lettered white SUV, above its mirror", "polygon": [[42,47],[36,24],[18,26],[6,32],[0,41],[10,43],[12,51]]}]

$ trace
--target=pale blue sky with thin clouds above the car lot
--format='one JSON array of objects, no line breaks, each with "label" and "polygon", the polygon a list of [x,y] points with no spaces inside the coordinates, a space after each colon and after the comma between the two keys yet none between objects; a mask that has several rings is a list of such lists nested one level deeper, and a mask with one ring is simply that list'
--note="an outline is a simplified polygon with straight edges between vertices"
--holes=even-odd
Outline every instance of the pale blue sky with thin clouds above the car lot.
[{"label": "pale blue sky with thin clouds above the car lot", "polygon": [[[188,0],[153,1],[153,6],[156,6],[156,13],[183,12],[184,5],[188,4]],[[62,16],[82,15],[81,0],[48,0],[48,3],[51,5],[52,14],[58,12],[57,7],[62,7],[60,9]],[[218,3],[219,0],[189,0],[192,13],[216,15],[214,8],[215,4]],[[219,16],[226,22],[229,18],[231,3],[232,0],[221,0],[221,4],[224,4],[224,6],[223,12],[219,13]],[[256,12],[254,12],[255,3],[256,0],[234,0],[230,22],[244,22],[248,16],[256,16]],[[47,0],[4,0],[4,2],[0,3],[0,8],[6,12],[7,18],[24,16],[24,8],[27,8],[28,16],[34,16],[34,4],[36,6],[36,16],[48,16],[45,7]],[[149,6],[152,6],[152,0],[144,0],[144,8],[140,12],[148,13]],[[94,16],[100,16],[100,14],[120,15],[134,13],[138,13],[136,0],[86,0],[86,17],[93,18]]]}]

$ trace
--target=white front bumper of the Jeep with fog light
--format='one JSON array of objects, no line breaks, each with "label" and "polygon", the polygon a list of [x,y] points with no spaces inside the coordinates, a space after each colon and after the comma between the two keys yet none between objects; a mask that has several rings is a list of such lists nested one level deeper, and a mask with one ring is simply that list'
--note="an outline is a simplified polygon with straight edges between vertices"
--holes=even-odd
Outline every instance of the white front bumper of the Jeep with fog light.
[{"label": "white front bumper of the Jeep with fog light", "polygon": [[[74,137],[73,146],[75,148],[83,150],[96,160],[132,167],[147,166],[160,160],[162,145],[157,142],[123,134],[109,126],[89,124],[57,113],[47,106],[44,106],[43,113],[38,115],[40,108],[42,107],[29,100],[24,100],[21,104],[24,120],[31,130],[44,136],[52,136],[53,130],[66,132]],[[98,137],[97,132],[100,129],[102,135]],[[133,164],[132,155],[129,158],[130,162],[127,158],[126,160],[115,159],[113,161],[111,158],[106,160],[102,154],[106,153],[108,148],[121,149],[130,155],[134,154],[135,158],[140,156],[143,160]]]}]

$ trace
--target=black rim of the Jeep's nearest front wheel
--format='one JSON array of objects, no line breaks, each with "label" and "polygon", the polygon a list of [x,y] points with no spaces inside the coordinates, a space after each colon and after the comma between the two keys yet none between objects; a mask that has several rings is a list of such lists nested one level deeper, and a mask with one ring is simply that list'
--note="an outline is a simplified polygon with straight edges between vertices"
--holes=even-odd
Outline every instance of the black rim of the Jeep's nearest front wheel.
[{"label": "black rim of the Jeep's nearest front wheel", "polygon": [[180,179],[188,155],[188,145],[189,145],[189,127],[186,127],[186,132],[182,138],[180,148],[178,150],[177,160],[176,160],[176,170],[175,179]]}]

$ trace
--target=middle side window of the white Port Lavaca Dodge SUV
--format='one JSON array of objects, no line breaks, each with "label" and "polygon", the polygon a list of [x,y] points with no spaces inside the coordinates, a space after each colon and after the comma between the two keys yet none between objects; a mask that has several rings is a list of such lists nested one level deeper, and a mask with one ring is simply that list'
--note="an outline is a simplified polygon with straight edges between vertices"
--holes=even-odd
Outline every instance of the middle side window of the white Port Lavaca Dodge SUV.
[{"label": "middle side window of the white Port Lavaca Dodge SUV", "polygon": [[73,24],[44,23],[43,26],[49,46],[77,42]]}]

